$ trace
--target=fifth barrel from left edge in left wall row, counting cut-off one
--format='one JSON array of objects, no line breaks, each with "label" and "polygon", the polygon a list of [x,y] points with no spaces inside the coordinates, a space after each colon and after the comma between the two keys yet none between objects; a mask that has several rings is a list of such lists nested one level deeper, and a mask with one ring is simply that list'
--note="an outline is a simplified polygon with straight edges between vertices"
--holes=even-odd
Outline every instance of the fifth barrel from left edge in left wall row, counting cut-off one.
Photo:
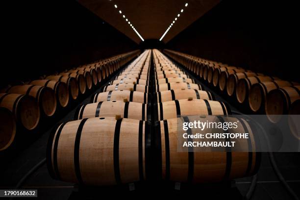
[{"label": "fifth barrel from left edge in left wall row, counting cut-off one", "polygon": [[74,77],[64,75],[49,75],[45,79],[57,80],[66,83],[69,88],[70,98],[72,98],[72,100],[76,100],[78,98],[79,89]]}]

